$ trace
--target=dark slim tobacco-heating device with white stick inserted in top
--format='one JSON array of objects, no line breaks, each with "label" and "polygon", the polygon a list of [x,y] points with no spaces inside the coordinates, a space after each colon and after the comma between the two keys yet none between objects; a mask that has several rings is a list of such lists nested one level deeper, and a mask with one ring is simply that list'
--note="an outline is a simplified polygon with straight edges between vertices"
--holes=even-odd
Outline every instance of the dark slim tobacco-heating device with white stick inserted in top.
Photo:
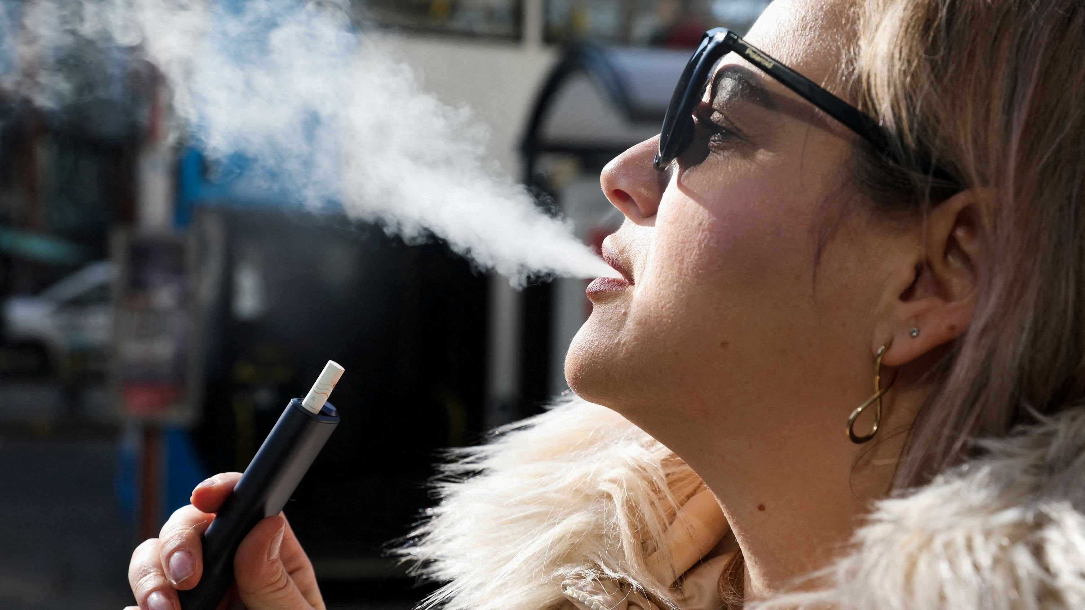
[{"label": "dark slim tobacco-heating device with white stick inserted in top", "polygon": [[292,399],[204,533],[203,575],[177,592],[181,610],[215,610],[233,585],[233,556],[261,519],[278,515],[339,425],[328,401],[343,367],[328,361],[305,400]]}]

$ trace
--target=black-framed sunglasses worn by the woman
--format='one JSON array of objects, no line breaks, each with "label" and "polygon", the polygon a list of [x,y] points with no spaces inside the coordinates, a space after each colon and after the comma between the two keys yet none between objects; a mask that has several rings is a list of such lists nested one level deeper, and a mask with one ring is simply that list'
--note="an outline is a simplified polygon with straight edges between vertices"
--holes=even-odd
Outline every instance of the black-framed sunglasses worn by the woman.
[{"label": "black-framed sunglasses worn by the woman", "polygon": [[[901,160],[901,151],[893,146],[893,139],[872,117],[750,46],[733,31],[717,27],[704,33],[701,44],[690,57],[689,63],[686,64],[686,69],[682,70],[681,77],[678,79],[678,86],[675,87],[671,104],[667,106],[667,114],[663,117],[660,150],[654,159],[656,169],[666,167],[689,146],[693,139],[693,108],[701,102],[713,66],[716,65],[719,57],[732,51],[749,60],[750,63],[809,103],[821,108],[844,127],[859,134],[879,154],[894,160]],[[921,160],[923,167],[929,168],[929,174],[932,178],[953,184],[957,183],[957,180],[949,172],[939,168],[926,155],[912,154]]]}]

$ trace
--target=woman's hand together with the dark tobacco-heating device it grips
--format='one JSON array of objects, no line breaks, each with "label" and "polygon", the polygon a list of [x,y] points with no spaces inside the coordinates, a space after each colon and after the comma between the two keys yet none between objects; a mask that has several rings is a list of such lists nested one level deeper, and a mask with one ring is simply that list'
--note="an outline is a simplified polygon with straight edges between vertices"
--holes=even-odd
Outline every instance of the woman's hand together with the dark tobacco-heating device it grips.
[{"label": "woman's hand together with the dark tobacco-heating device it grips", "polygon": [[329,361],[305,400],[286,405],[244,475],[201,483],[159,537],[137,547],[129,582],[140,608],[215,610],[235,575],[248,610],[323,607],[311,564],[280,511],[339,424],[326,401],[342,374]]}]

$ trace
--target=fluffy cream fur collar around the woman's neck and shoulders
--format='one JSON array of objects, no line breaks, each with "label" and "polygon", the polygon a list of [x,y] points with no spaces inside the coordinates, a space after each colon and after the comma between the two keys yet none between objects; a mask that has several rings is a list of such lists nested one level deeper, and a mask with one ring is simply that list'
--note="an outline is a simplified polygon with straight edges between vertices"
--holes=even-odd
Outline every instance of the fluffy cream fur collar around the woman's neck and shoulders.
[{"label": "fluffy cream fur collar around the woman's neck and shoulders", "polygon": [[[1085,609],[1085,408],[984,446],[878,502],[825,588],[757,607]],[[552,610],[569,608],[563,583],[616,582],[641,606],[688,607],[647,558],[703,483],[614,412],[569,400],[442,468],[438,506],[400,549],[444,583],[424,606]]]}]

